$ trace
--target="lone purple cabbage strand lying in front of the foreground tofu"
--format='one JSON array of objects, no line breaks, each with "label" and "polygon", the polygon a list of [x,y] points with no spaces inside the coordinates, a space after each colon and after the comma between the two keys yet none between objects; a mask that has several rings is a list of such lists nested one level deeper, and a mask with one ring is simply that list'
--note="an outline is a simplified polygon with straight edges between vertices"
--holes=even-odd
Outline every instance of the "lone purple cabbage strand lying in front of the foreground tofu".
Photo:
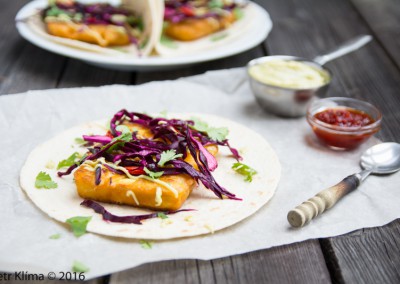
[{"label": "lone purple cabbage strand lying in front of the foreground tofu", "polygon": [[93,200],[85,199],[84,201],[82,201],[81,205],[87,208],[92,208],[96,213],[103,215],[103,220],[116,223],[127,223],[136,225],[142,225],[143,220],[157,218],[159,213],[164,213],[165,215],[171,215],[171,214],[176,214],[178,212],[195,211],[194,209],[180,209],[176,211],[156,212],[145,215],[116,216],[108,212],[102,205]]}]

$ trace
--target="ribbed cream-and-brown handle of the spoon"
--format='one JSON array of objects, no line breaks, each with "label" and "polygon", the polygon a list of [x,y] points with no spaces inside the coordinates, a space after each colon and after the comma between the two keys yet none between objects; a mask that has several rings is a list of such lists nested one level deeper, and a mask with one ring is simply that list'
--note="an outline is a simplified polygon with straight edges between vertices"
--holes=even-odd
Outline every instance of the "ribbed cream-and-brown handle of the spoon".
[{"label": "ribbed cream-and-brown handle of the spoon", "polygon": [[319,192],[314,197],[289,211],[287,219],[293,227],[303,227],[313,218],[331,208],[343,196],[356,189],[360,184],[360,176],[354,174],[344,178],[338,184]]}]

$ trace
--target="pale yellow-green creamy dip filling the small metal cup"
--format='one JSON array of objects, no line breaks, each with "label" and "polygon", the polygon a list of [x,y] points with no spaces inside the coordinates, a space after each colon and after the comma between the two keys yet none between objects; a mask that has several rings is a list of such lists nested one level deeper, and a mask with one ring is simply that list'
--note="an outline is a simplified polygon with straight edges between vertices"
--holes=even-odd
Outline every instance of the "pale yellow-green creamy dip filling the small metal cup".
[{"label": "pale yellow-green creamy dip filling the small metal cup", "polygon": [[290,89],[312,89],[325,85],[328,72],[300,61],[271,60],[249,69],[251,77],[262,83]]}]

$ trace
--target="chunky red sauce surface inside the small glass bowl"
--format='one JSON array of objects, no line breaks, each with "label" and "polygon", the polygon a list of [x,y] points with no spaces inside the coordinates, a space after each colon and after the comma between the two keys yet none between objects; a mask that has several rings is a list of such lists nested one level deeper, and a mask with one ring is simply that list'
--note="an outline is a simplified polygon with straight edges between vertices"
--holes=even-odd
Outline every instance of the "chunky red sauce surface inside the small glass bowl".
[{"label": "chunky red sauce surface inside the small glass bowl", "polygon": [[375,122],[367,113],[354,108],[328,108],[314,114],[322,122],[342,127],[362,127]]}]

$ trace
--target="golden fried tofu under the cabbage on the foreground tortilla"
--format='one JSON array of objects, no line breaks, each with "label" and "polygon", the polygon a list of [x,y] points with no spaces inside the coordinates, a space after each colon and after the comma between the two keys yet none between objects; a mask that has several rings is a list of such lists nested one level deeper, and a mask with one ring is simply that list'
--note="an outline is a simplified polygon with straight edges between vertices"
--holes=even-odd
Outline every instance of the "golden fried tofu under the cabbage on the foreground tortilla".
[{"label": "golden fried tofu under the cabbage on the foreground tortilla", "polygon": [[[138,131],[142,138],[150,138],[152,135],[141,125],[128,126],[131,130]],[[218,153],[217,145],[208,145],[206,149],[214,156]],[[191,155],[188,155],[185,161],[197,169]],[[187,174],[162,176],[152,181],[143,178],[131,179],[105,167],[102,167],[101,182],[96,185],[95,168],[87,164],[81,165],[75,171],[74,178],[78,194],[82,198],[154,210],[178,210],[197,185]],[[168,187],[163,183],[168,184]]]}]

